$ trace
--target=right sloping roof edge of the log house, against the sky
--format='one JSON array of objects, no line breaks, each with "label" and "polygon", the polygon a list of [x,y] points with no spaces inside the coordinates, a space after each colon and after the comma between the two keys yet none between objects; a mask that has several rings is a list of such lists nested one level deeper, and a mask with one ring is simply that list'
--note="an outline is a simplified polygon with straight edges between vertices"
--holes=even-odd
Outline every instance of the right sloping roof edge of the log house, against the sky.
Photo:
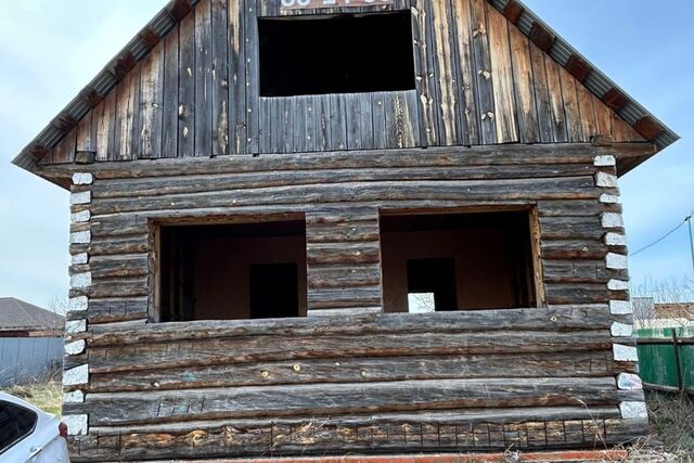
[{"label": "right sloping roof edge of the log house, against the sky", "polygon": [[658,152],[680,139],[679,134],[595,67],[520,0],[487,1],[644,139],[653,142]]}]

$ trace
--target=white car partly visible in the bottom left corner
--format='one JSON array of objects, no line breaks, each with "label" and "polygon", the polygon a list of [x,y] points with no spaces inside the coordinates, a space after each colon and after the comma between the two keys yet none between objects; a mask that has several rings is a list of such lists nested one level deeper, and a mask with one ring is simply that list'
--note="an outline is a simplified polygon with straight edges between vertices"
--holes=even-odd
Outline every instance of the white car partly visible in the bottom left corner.
[{"label": "white car partly visible in the bottom left corner", "polygon": [[66,438],[57,416],[0,393],[0,463],[69,463]]}]

